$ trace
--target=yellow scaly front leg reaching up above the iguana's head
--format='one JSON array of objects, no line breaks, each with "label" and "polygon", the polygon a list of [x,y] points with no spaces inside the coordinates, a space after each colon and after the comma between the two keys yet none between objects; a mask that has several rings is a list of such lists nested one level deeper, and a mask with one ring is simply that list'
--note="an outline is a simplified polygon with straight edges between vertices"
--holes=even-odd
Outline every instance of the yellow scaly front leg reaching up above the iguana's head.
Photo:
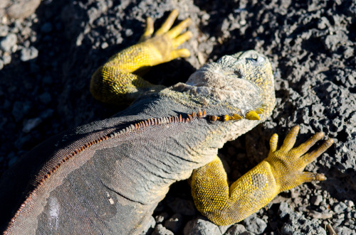
[{"label": "yellow scaly front leg reaching up above the iguana's head", "polygon": [[187,18],[171,28],[177,16],[178,11],[172,11],[155,34],[152,18],[147,18],[145,33],[139,43],[113,55],[94,72],[90,81],[93,97],[101,102],[117,103],[124,99],[132,100],[148,89],[162,89],[162,86],[155,86],[138,74],[147,67],[189,57],[188,49],[177,47],[192,38],[190,31],[181,34],[192,21]]}]

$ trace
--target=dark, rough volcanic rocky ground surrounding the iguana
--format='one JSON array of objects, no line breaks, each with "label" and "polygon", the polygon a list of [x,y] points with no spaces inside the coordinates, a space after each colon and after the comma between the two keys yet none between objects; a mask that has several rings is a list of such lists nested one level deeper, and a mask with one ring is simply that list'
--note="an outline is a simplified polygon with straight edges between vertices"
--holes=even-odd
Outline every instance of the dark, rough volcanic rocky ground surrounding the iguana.
[{"label": "dark, rough volcanic rocky ground surrounding the iguana", "polygon": [[[10,7],[16,4],[27,5]],[[205,62],[239,50],[257,50],[273,65],[273,116],[220,151],[231,180],[266,157],[273,132],[283,137],[295,124],[298,143],[317,131],[337,143],[307,168],[327,181],[284,192],[233,226],[200,217],[189,186],[178,182],[147,233],[356,234],[355,0],[1,1],[0,174],[49,136],[115,114],[120,107],[90,96],[90,75],[137,42],[147,16],[157,27],[172,9],[194,22],[184,44],[192,57],[155,67],[151,82],[184,82]]]}]

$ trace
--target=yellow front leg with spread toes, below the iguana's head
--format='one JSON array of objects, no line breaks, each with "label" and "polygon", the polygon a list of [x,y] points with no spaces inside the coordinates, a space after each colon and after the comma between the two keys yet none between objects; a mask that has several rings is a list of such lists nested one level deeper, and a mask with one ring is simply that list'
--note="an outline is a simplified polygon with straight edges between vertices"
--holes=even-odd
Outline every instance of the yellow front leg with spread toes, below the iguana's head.
[{"label": "yellow front leg with spread toes, below the iguana's head", "polygon": [[326,180],[323,174],[303,170],[333,144],[333,139],[325,141],[315,151],[306,153],[324,134],[316,133],[305,143],[293,148],[298,131],[298,126],[293,127],[278,151],[278,136],[274,134],[268,157],[230,186],[217,156],[211,163],[194,170],[192,196],[199,212],[217,225],[234,224],[264,207],[279,192],[303,182]]}]

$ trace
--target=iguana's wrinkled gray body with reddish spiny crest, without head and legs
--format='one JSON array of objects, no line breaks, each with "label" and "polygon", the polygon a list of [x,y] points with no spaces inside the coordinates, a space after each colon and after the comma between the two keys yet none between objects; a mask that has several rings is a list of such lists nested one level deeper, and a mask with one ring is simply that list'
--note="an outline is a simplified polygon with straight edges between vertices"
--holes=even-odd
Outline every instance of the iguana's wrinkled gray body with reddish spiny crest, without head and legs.
[{"label": "iguana's wrinkled gray body with reddish spiny crest, without head and legs", "polygon": [[[187,179],[216,154],[214,145],[220,141],[211,139],[205,149],[200,145],[219,123],[187,119],[187,110],[152,94],[118,117],[66,131],[34,148],[14,166],[16,171],[2,178],[1,185],[7,184],[0,197],[8,206],[5,214],[20,207],[9,233],[139,232],[169,185]],[[152,114],[162,118],[150,118]],[[12,196],[21,195],[12,190],[28,183],[27,197]]]}]

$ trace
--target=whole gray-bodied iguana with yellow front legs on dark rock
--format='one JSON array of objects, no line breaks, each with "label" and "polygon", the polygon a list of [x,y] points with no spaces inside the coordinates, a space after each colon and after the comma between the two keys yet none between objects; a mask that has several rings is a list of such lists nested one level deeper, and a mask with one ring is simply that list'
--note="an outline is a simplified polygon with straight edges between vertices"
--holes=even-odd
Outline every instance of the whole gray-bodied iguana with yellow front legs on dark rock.
[{"label": "whole gray-bodied iguana with yellow front legs on dark rock", "polygon": [[[303,182],[303,172],[333,143],[309,151],[324,133],[293,148],[298,126],[278,149],[273,134],[266,159],[229,184],[217,151],[271,116],[271,64],[253,50],[204,65],[186,83],[150,84],[142,70],[190,55],[179,45],[188,18],[172,28],[172,11],[154,33],[152,18],[140,42],[114,55],[93,74],[96,99],[132,100],[124,111],[48,139],[1,180],[4,234],[139,234],[178,180],[190,179],[194,204],[217,225],[233,224]],[[309,152],[308,152],[309,151]]]}]

